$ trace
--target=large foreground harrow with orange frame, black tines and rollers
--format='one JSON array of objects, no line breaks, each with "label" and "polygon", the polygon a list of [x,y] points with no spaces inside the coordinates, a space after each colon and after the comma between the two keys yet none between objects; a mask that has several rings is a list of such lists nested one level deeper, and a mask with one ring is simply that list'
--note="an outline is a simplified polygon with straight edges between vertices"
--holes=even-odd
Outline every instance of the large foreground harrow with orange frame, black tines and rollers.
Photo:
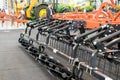
[{"label": "large foreground harrow with orange frame, black tines and rollers", "polygon": [[28,22],[18,41],[58,80],[120,80],[120,12],[106,5]]}]

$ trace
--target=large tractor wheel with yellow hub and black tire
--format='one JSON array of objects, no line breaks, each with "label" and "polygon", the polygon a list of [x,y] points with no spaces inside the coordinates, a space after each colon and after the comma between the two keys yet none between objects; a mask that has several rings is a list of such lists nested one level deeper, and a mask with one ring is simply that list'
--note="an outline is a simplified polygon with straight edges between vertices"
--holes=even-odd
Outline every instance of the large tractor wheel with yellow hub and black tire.
[{"label": "large tractor wheel with yellow hub and black tire", "polygon": [[40,5],[36,8],[36,11],[35,11],[36,19],[46,17],[46,8],[47,8],[47,5]]}]

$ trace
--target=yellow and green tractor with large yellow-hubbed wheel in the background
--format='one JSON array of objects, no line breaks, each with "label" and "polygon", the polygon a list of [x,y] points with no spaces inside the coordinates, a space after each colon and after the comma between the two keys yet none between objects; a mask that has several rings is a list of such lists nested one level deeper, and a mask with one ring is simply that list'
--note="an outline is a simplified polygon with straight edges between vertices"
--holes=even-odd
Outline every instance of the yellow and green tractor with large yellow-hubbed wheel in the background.
[{"label": "yellow and green tractor with large yellow-hubbed wheel in the background", "polygon": [[[31,0],[29,5],[24,8],[27,19],[43,18],[46,16],[47,3],[51,0]],[[52,0],[53,1],[53,0]],[[51,1],[51,3],[53,3]]]}]

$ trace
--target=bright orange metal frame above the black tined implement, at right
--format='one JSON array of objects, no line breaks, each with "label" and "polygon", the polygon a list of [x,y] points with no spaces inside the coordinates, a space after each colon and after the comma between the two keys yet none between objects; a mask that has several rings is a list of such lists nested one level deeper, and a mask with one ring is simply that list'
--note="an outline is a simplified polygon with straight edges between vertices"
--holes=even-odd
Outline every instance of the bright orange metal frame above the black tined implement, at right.
[{"label": "bright orange metal frame above the black tined implement, at right", "polygon": [[[69,12],[63,14],[55,14],[53,18],[62,20],[84,20],[87,25],[86,28],[93,29],[104,24],[120,24],[120,12],[115,13],[109,10],[109,7],[120,8],[114,3],[104,2],[101,4],[100,8],[93,12]],[[106,11],[104,11],[106,9]]]}]

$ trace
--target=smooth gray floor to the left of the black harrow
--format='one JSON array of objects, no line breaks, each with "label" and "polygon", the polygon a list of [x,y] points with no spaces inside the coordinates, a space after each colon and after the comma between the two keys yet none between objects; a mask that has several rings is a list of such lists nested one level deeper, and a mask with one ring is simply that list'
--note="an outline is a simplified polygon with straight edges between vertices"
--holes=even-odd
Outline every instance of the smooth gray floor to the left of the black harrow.
[{"label": "smooth gray floor to the left of the black harrow", "polygon": [[0,32],[0,80],[56,80],[21,48],[22,31]]}]

